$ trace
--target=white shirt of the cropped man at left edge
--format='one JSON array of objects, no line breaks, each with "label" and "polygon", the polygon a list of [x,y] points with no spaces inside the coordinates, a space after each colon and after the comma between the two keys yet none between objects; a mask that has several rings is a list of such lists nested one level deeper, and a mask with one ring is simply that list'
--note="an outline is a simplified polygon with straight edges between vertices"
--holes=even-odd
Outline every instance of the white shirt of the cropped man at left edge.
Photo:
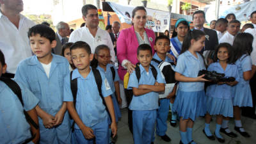
[{"label": "white shirt of the cropped man at left edge", "polygon": [[7,72],[15,74],[20,61],[32,56],[28,30],[35,23],[20,14],[19,29],[0,12],[0,49],[8,65]]}]

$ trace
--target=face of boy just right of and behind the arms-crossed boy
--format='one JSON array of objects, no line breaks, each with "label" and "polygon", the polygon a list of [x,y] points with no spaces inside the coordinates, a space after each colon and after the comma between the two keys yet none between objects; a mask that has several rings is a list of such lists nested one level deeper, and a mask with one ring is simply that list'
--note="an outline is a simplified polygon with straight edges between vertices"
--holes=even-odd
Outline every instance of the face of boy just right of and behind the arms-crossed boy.
[{"label": "face of boy just right of and behind the arms-crossed boy", "polygon": [[166,39],[159,39],[154,45],[154,49],[157,54],[166,54],[166,52],[170,51],[170,41]]}]

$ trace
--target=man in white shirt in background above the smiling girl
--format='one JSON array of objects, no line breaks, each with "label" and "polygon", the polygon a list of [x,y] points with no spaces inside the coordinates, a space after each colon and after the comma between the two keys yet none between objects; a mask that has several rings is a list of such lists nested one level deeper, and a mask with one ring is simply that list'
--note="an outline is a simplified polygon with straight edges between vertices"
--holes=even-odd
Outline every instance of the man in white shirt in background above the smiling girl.
[{"label": "man in white shirt in background above the smiling girl", "polygon": [[228,22],[227,32],[220,38],[219,43],[227,42],[228,44],[233,45],[235,36],[240,30],[240,26],[241,23],[239,22],[239,20],[235,19]]}]

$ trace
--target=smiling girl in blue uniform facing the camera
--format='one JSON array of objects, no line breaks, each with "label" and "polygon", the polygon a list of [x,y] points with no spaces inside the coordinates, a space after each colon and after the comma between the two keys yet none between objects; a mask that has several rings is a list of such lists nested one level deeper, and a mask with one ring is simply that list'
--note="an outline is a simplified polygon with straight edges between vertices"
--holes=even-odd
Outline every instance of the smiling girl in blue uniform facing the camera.
[{"label": "smiling girl in blue uniform facing the camera", "polygon": [[205,115],[205,136],[210,140],[215,140],[212,136],[209,125],[211,115],[216,115],[215,136],[220,143],[225,143],[225,139],[220,135],[220,127],[224,117],[233,117],[232,87],[239,82],[237,66],[234,64],[234,52],[232,46],[228,43],[221,43],[214,52],[214,63],[207,68],[209,71],[215,71],[225,74],[225,77],[235,77],[233,82],[219,82],[207,87],[207,114]]}]

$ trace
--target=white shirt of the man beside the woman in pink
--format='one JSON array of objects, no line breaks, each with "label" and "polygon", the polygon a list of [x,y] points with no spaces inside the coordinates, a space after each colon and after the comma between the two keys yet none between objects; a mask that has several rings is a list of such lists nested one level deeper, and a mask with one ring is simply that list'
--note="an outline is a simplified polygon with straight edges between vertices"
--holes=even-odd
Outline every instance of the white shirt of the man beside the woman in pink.
[{"label": "white shirt of the man beside the woman in pink", "polygon": [[97,33],[95,37],[93,37],[89,29],[86,26],[84,26],[73,31],[68,40],[68,42],[77,41],[83,41],[90,45],[93,54],[98,45],[108,45],[110,49],[111,61],[115,61],[114,46],[107,31],[104,31],[98,27]]}]

